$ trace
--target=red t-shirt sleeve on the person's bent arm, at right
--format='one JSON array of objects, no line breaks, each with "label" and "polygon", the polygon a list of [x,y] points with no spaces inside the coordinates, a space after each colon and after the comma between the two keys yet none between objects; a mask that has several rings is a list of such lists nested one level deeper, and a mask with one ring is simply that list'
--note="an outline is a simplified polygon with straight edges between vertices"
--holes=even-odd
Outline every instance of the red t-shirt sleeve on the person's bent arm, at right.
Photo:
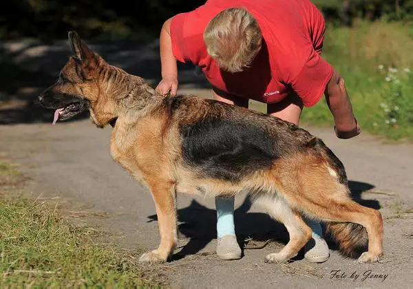
[{"label": "red t-shirt sleeve on the person's bent arm, at right", "polygon": [[312,107],[320,100],[333,74],[333,67],[313,47],[301,72],[291,83],[293,90],[303,100],[304,106]]}]

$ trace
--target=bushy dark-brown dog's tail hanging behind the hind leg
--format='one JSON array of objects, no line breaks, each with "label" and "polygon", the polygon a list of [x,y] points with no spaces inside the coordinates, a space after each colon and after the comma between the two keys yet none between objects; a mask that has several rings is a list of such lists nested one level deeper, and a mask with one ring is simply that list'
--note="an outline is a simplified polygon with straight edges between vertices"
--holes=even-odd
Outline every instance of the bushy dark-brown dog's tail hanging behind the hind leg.
[{"label": "bushy dark-brown dog's tail hanging behind the hind leg", "polygon": [[360,224],[328,222],[326,233],[337,242],[340,252],[348,257],[357,257],[368,246],[366,228]]}]

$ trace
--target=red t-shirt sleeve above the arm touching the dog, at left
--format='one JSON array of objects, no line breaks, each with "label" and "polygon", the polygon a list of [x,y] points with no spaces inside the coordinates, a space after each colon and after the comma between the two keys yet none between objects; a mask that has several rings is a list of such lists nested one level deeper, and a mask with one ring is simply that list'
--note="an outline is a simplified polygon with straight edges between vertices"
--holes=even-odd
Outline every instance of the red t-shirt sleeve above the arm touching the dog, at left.
[{"label": "red t-shirt sleeve above the arm touching the dog, at left", "polygon": [[187,56],[186,41],[184,40],[184,22],[187,13],[176,14],[171,20],[169,33],[171,34],[172,53],[182,63],[189,60]]}]

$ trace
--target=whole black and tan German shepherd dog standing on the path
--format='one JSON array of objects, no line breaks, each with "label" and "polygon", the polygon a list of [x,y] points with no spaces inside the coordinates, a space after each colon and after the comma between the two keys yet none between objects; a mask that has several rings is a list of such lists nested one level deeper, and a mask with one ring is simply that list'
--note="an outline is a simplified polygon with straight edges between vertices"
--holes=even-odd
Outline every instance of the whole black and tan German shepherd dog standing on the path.
[{"label": "whole black and tan German shepherd dog standing on the path", "polygon": [[[160,244],[140,261],[165,262],[177,242],[176,194],[209,197],[248,192],[286,226],[289,242],[267,262],[297,255],[312,235],[303,216],[326,223],[343,255],[383,255],[381,213],[353,202],[343,164],[308,131],[273,116],[191,95],[162,96],[109,65],[69,32],[73,55],[39,102],[67,120],[89,109],[96,127],[112,125],[112,158],[147,185]],[[366,247],[368,250],[366,251]]]}]

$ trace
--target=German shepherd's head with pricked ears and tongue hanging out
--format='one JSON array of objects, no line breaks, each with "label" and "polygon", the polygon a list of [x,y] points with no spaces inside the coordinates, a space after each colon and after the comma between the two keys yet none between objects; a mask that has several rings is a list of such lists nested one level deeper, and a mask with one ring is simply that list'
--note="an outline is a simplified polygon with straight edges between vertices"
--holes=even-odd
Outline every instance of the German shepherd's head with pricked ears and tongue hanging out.
[{"label": "German shepherd's head with pricked ears and tongue hanging out", "polygon": [[104,127],[116,118],[116,102],[105,82],[111,67],[90,50],[76,32],[69,32],[69,43],[72,56],[61,69],[56,83],[39,95],[39,103],[45,108],[56,109],[54,123],[89,109],[92,121],[98,127]]}]

